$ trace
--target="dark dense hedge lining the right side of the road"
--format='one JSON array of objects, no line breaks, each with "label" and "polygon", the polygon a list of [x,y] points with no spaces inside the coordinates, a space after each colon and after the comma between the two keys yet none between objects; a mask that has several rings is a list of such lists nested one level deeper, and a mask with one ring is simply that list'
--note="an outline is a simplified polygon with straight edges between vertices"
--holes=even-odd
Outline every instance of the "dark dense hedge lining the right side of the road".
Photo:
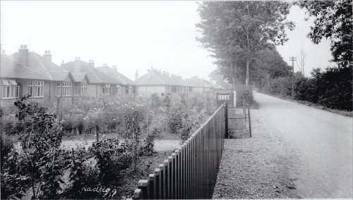
[{"label": "dark dense hedge lining the right side of the road", "polygon": [[[292,77],[270,80],[270,94],[288,97],[292,95]],[[294,99],[309,101],[328,108],[352,111],[352,69],[316,68],[311,77],[296,74]]]}]

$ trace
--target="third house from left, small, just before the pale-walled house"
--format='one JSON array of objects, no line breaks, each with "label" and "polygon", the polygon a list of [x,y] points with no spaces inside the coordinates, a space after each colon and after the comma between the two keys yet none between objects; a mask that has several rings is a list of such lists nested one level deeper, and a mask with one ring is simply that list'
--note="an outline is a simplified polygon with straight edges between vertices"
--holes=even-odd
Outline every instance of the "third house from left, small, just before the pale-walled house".
[{"label": "third house from left, small, just before the pale-walled house", "polygon": [[128,77],[119,73],[116,65],[113,65],[112,68],[110,68],[105,63],[102,67],[97,67],[96,69],[120,83],[120,85],[117,85],[117,93],[120,94],[121,97],[133,97],[138,93],[135,83]]}]

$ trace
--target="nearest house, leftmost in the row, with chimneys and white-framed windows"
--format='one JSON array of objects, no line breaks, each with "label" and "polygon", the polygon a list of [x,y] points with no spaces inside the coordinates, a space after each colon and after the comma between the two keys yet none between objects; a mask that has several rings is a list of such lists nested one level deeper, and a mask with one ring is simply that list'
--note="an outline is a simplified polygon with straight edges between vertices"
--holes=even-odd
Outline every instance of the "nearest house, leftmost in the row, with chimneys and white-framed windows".
[{"label": "nearest house, leftmost in the row, with chimneys and white-framed windows", "polygon": [[[18,52],[9,56],[1,55],[0,82],[0,102],[1,107],[5,107],[25,94],[30,94],[31,98],[38,101],[84,96],[90,80],[85,73],[73,74],[53,63],[50,51],[45,51],[41,56],[28,51],[26,45],[21,45]],[[17,91],[13,90],[15,87]]]}]

